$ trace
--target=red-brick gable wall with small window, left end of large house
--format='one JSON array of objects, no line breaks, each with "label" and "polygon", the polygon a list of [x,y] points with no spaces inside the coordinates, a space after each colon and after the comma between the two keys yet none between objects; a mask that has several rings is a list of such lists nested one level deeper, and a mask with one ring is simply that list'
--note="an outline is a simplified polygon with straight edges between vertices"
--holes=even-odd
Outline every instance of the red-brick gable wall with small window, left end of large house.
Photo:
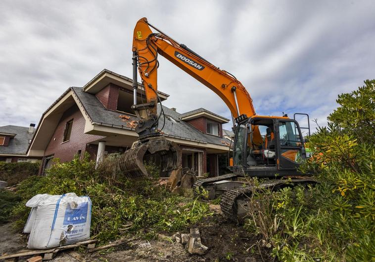
[{"label": "red-brick gable wall with small window, left end of large house", "polygon": [[[62,143],[65,124],[71,119],[73,119],[73,125],[69,141]],[[85,122],[86,120],[77,105],[66,110],[53,132],[46,148],[45,156],[54,154],[54,157],[60,158],[61,162],[70,161],[78,150],[82,150],[83,155],[86,150],[86,144],[104,138],[102,136],[85,134]]]}]

